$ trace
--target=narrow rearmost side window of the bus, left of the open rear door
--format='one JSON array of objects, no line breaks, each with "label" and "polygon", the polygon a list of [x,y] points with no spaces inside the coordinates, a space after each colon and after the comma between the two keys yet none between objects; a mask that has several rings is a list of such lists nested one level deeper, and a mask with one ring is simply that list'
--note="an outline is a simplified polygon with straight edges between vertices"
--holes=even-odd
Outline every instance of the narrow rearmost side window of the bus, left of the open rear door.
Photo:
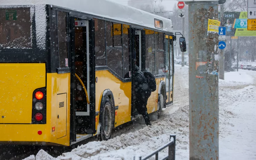
[{"label": "narrow rearmost side window of the bus, left of the open rear door", "polygon": [[65,68],[67,57],[67,13],[57,11],[58,57],[59,68]]}]

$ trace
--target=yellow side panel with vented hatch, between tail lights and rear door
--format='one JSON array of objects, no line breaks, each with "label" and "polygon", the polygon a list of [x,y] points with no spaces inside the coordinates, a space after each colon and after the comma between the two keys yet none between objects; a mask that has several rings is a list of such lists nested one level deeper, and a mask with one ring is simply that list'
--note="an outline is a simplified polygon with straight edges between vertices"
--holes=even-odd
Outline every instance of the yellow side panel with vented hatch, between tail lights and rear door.
[{"label": "yellow side panel with vented hatch, between tail lights and rear door", "polygon": [[[59,97],[59,95],[61,95]],[[65,96],[66,95],[66,96]],[[47,73],[47,120],[45,142],[70,145],[70,73]],[[59,102],[66,107],[59,109]],[[58,112],[59,111],[59,112]],[[59,118],[58,118],[59,114]],[[66,114],[66,117],[65,115]],[[66,119],[65,119],[66,118]],[[66,120],[66,122],[65,122]],[[61,125],[61,128],[59,128]],[[53,127],[55,130],[53,130]],[[64,131],[65,130],[65,131]],[[58,132],[58,133],[57,133]]]}]

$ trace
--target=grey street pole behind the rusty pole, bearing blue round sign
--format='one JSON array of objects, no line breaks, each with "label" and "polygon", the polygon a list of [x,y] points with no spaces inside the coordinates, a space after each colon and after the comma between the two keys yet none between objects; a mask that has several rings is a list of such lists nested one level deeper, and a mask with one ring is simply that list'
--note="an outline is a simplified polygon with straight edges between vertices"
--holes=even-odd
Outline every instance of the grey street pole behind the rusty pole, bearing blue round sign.
[{"label": "grey street pole behind the rusty pole, bearing blue round sign", "polygon": [[[220,10],[220,18],[221,18],[221,26],[224,26],[224,5],[220,5],[221,6],[221,10]],[[226,42],[224,40],[224,42]],[[224,50],[220,50],[220,57],[219,57],[219,78],[223,79],[225,78],[224,75],[224,68],[225,68],[225,62],[224,62],[224,57],[225,57],[225,52]]]}]

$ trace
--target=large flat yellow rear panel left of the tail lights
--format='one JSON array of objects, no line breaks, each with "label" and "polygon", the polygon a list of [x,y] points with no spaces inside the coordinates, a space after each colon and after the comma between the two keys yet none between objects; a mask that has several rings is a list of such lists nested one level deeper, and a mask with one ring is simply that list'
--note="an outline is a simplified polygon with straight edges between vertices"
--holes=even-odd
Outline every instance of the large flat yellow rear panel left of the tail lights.
[{"label": "large flat yellow rear panel left of the tail lights", "polygon": [[0,122],[31,123],[33,91],[46,85],[45,63],[0,63],[0,68]]}]

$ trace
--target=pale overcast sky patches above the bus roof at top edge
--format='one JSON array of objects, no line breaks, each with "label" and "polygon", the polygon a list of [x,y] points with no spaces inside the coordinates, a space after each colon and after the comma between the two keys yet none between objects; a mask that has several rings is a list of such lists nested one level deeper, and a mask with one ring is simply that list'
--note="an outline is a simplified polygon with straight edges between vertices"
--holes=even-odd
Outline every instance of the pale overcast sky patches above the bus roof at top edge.
[{"label": "pale overcast sky patches above the bus roof at top edge", "polygon": [[[110,0],[110,1],[127,5],[128,0]],[[136,3],[136,1],[143,2],[144,0],[132,0],[132,1],[133,1],[133,3]],[[160,0],[158,0],[158,1],[160,1]],[[178,2],[176,0],[162,0],[162,6],[165,7],[166,11],[172,11],[173,6],[177,6],[177,3]]]}]

